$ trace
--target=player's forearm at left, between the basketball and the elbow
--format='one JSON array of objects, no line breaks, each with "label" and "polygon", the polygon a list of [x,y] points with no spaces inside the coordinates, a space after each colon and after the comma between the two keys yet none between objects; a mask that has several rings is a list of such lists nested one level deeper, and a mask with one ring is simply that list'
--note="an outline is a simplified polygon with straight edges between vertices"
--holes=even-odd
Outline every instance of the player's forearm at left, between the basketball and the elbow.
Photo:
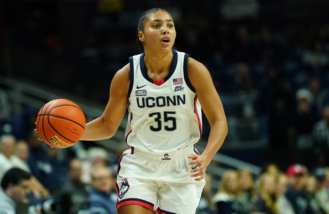
[{"label": "player's forearm at left, between the basketball and the elbow", "polygon": [[103,118],[96,118],[86,124],[81,140],[102,140],[113,137],[115,130],[109,128]]}]

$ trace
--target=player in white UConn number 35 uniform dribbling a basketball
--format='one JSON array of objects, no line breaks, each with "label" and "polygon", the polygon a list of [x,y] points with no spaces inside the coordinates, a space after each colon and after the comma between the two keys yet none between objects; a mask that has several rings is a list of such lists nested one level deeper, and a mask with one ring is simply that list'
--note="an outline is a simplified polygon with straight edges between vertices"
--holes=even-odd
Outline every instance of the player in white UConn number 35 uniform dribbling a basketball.
[{"label": "player in white UConn number 35 uniform dribbling a basketball", "polygon": [[[173,51],[176,31],[164,9],[138,20],[143,54],[129,58],[111,83],[101,117],[86,124],[81,140],[111,138],[128,107],[126,150],[118,163],[118,214],[195,213],[208,164],[227,134],[227,121],[207,68]],[[200,155],[201,106],[211,131]]]}]

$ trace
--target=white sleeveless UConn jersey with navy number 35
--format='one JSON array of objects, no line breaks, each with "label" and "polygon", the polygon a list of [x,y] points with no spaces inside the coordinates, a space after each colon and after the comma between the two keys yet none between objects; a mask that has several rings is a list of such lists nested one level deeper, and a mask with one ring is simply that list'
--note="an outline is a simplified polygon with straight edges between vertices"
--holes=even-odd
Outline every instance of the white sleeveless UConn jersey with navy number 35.
[{"label": "white sleeveless UConn jersey with navy number 35", "polygon": [[129,116],[125,137],[129,146],[166,152],[193,145],[201,138],[201,106],[187,74],[189,55],[173,53],[169,74],[160,82],[146,74],[144,53],[129,58]]}]

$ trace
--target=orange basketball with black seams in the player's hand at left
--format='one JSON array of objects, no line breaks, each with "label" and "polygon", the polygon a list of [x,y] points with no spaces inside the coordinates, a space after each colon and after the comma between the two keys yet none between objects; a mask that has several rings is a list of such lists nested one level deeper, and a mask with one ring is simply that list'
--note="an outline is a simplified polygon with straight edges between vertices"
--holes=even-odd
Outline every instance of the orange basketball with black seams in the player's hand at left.
[{"label": "orange basketball with black seams in the player's hand at left", "polygon": [[81,139],[86,118],[74,102],[54,99],[40,109],[36,125],[40,138],[49,146],[67,148]]}]

